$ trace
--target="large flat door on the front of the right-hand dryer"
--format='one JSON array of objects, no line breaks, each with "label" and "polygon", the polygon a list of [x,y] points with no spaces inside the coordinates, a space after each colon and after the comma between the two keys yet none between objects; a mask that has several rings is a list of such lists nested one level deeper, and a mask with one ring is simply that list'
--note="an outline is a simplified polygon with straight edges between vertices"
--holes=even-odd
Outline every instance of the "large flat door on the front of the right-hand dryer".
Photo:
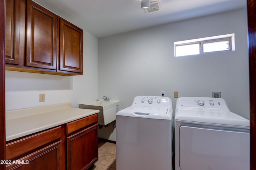
[{"label": "large flat door on the front of the right-hand dryer", "polygon": [[180,127],[181,170],[249,170],[250,134]]}]

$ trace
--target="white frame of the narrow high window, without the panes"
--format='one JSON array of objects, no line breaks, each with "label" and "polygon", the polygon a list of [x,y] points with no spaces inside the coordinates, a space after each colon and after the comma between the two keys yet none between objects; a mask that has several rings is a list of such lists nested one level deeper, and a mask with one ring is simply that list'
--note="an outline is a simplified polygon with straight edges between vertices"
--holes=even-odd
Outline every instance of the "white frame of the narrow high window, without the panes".
[{"label": "white frame of the narrow high window, without the panes", "polygon": [[[209,51],[209,52],[204,52],[204,44],[207,43],[215,43],[215,42],[222,42],[222,41],[229,41],[229,49],[227,50],[220,50],[220,51]],[[184,57],[184,56],[191,56],[191,55],[182,55],[182,56],[176,56],[176,47],[177,46],[182,46],[182,45],[192,45],[192,44],[199,44],[199,54],[195,55],[200,55],[200,54],[206,54],[206,53],[218,53],[218,52],[223,52],[223,51],[234,51],[234,33],[232,34],[227,34],[227,35],[218,35],[214,37],[205,37],[205,38],[200,38],[200,39],[190,39],[186,41],[177,41],[174,42],[174,57]]]}]

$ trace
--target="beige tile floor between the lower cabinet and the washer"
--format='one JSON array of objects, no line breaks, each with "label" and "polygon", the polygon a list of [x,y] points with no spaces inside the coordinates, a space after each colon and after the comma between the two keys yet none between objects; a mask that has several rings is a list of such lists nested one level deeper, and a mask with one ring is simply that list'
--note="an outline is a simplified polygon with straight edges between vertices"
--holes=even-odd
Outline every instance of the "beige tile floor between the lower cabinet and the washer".
[{"label": "beige tile floor between the lower cabinet and the washer", "polygon": [[116,170],[116,144],[99,140],[99,160],[91,170]]}]

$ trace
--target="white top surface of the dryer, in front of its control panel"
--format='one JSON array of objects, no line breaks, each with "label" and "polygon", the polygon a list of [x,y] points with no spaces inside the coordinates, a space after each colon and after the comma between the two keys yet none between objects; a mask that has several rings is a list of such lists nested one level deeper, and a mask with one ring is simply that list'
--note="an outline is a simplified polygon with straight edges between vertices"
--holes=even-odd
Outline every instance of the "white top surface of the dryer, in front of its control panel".
[{"label": "white top surface of the dryer, in front of its control panel", "polygon": [[250,121],[222,109],[176,109],[175,120],[250,127]]}]

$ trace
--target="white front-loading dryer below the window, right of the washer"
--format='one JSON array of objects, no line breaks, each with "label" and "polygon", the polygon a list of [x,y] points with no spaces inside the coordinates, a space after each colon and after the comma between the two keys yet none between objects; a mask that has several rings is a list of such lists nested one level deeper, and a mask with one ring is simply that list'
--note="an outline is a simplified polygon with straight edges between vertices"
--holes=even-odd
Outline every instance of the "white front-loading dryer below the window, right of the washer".
[{"label": "white front-loading dryer below the window, right of the washer", "polygon": [[179,98],[175,170],[249,170],[250,121],[222,98]]}]

